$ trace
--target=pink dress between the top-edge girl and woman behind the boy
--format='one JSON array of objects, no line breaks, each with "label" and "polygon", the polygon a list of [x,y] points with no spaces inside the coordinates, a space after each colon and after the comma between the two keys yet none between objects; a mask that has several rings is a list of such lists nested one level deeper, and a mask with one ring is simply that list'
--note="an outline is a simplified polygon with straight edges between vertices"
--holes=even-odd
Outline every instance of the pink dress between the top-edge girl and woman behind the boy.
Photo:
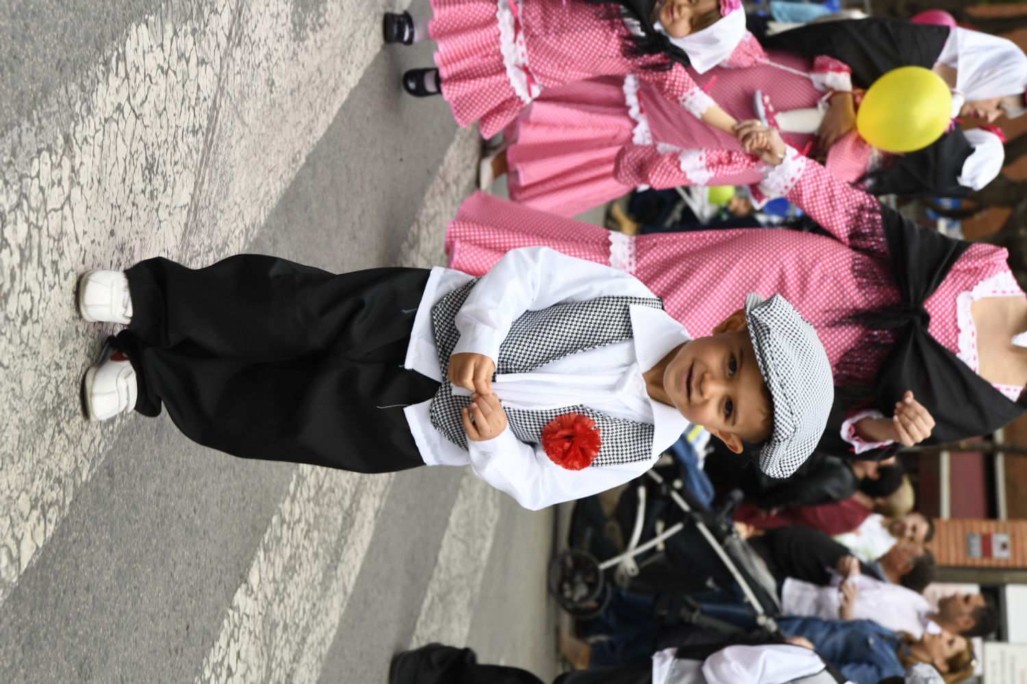
[{"label": "pink dress between the top-edge girl and woman behind the boy", "polygon": [[[769,93],[772,107],[786,110],[816,107],[831,92],[851,89],[848,68],[840,62],[782,50],[765,53],[752,34],[706,73],[687,71],[738,120],[757,116],[757,90]],[[759,180],[751,166],[725,167],[706,156],[701,150],[741,148],[731,136],[680,110],[634,75],[546,90],[504,130],[510,199],[572,217],[638,187]],[[790,134],[788,142],[805,150],[813,137]]]}]

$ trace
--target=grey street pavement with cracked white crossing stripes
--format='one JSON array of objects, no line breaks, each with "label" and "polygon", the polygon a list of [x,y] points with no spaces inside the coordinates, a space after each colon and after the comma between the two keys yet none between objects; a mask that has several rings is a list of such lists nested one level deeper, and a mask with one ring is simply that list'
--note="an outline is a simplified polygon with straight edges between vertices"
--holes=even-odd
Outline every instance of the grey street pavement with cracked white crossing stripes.
[{"label": "grey street pavement with cracked white crossing stripes", "polygon": [[431,65],[381,43],[409,4],[0,5],[0,681],[384,683],[430,641],[553,674],[551,510],[460,468],[248,461],[166,414],[80,414],[114,330],[78,319],[83,270],[444,263],[480,142],[402,91]]}]

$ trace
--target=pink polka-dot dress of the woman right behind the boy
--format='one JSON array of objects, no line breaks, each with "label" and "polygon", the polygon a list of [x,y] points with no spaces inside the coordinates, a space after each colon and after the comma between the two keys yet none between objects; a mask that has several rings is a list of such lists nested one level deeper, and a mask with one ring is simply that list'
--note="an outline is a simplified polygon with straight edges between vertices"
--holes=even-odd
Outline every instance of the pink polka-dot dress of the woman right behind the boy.
[{"label": "pink polka-dot dress of the woman right behind the boy", "polygon": [[[933,231],[909,223],[872,195],[840,181],[794,150],[781,165],[765,167],[762,176],[765,178],[755,191],[768,197],[787,197],[830,236],[763,228],[630,236],[478,193],[464,202],[449,226],[449,265],[481,274],[508,250],[547,245],[634,274],[663,299],[667,311],[681,320],[692,337],[710,335],[718,322],[741,307],[748,293],[763,297],[781,294],[816,329],[835,372],[835,384],[841,387],[880,386],[878,374],[883,365],[893,363],[889,359],[899,346],[897,341],[905,339],[902,336],[909,331],[922,328],[920,341],[927,348],[923,354],[942,367],[937,375],[962,383],[951,390],[962,394],[942,397],[931,398],[937,393],[933,388],[944,384],[937,378],[936,384],[914,390],[921,403],[935,402],[931,406],[924,404],[939,422],[935,435],[951,438],[961,433],[960,429],[969,429],[966,424],[983,428],[987,425],[982,423],[1012,420],[1010,416],[1020,415],[1014,402],[1022,387],[992,386],[976,375],[974,321],[969,314],[971,304],[977,299],[1024,296],[1006,264],[1004,249],[958,242],[937,233],[931,236],[927,233]],[[947,240],[935,246],[951,249],[953,255],[958,255],[945,262],[948,270],[940,271],[944,277],[939,274],[935,278],[940,284],[928,297],[921,295],[929,288],[909,294],[904,284],[908,276],[892,273],[892,252],[902,252],[902,259],[916,264],[913,270],[920,265],[920,257],[904,246],[916,243],[902,237],[907,233],[928,242]],[[902,270],[905,273],[910,269]],[[922,316],[910,313],[909,320],[903,319],[902,325],[877,328],[867,322],[875,317],[886,318],[895,311],[915,312],[921,308]],[[929,324],[924,326],[927,319]],[[944,358],[938,362],[939,357]],[[916,366],[908,359],[904,363],[910,368]],[[910,382],[915,384],[916,380]],[[896,391],[901,396],[905,389],[913,386]],[[951,410],[951,405],[958,403],[957,396],[975,395],[975,391],[980,394],[977,402],[987,405],[987,409],[971,411],[961,406],[958,412]],[[861,458],[880,458],[893,452],[889,443],[862,442],[853,425],[863,417],[890,415],[887,407],[896,401],[898,397],[875,404],[869,395],[860,401],[846,400],[829,424],[822,448]],[[962,427],[947,432],[939,418],[951,419]],[[956,439],[985,431],[971,429]]]}]

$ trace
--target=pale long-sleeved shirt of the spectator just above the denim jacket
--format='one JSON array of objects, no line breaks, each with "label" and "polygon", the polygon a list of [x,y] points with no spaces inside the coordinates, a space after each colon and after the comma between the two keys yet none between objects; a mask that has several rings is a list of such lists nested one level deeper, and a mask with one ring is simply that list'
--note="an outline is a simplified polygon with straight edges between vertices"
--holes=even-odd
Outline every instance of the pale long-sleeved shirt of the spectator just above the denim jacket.
[{"label": "pale long-sleeved shirt of the spectator just above the denim jacket", "polygon": [[[909,632],[916,639],[927,629],[931,609],[920,594],[867,575],[857,575],[847,581],[854,582],[857,590],[853,619],[873,620],[895,632]],[[830,586],[789,577],[781,590],[782,610],[790,615],[836,620],[841,598],[839,584],[837,575]]]}]

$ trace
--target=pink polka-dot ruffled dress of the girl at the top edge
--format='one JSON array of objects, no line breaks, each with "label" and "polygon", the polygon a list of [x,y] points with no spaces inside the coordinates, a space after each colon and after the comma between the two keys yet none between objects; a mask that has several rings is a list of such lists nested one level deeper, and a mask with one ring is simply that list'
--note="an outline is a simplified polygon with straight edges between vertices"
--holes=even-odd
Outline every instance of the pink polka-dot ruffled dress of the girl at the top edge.
[{"label": "pink polka-dot ruffled dress of the girl at the top edge", "polygon": [[[632,30],[610,5],[431,0],[431,9],[428,33],[439,44],[434,60],[443,97],[456,122],[478,121],[484,138],[502,130],[543,90],[597,76],[639,74],[689,117],[713,104],[680,63],[659,69],[669,62],[664,54],[626,55]],[[740,5],[730,20],[744,26]]]}]

